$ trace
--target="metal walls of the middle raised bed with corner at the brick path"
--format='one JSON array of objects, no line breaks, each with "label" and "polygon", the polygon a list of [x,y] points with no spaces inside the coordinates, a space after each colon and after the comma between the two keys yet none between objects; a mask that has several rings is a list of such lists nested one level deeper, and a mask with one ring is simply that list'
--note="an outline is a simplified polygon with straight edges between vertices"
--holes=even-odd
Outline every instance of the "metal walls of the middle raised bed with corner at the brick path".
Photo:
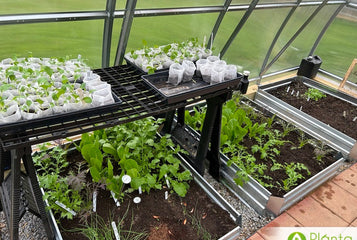
[{"label": "metal walls of the middle raised bed with corner at the brick path", "polygon": [[[251,105],[258,110],[266,110],[259,105],[251,102]],[[264,111],[265,113],[266,112]],[[270,113],[273,114],[273,113]],[[200,134],[193,130],[189,126],[185,126],[185,134],[186,139],[188,141],[197,141],[200,138]],[[330,147],[334,148],[330,145]],[[335,150],[338,150],[334,148]],[[232,164],[230,167],[227,166],[227,161],[229,160],[227,156],[224,154],[220,154],[220,163],[221,163],[221,181],[235,194],[238,198],[240,198],[247,205],[256,210],[260,215],[279,215],[306,195],[308,195],[311,191],[316,189],[322,183],[336,175],[339,167],[345,161],[345,158],[338,157],[338,159],[331,164],[329,167],[325,168],[320,173],[315,176],[309,178],[299,186],[295,187],[283,197],[273,196],[272,193],[263,187],[259,182],[257,182],[254,178],[249,176],[249,181],[243,184],[243,186],[237,185],[234,182],[235,173],[240,171],[236,165]],[[340,154],[341,155],[341,154]]]}]

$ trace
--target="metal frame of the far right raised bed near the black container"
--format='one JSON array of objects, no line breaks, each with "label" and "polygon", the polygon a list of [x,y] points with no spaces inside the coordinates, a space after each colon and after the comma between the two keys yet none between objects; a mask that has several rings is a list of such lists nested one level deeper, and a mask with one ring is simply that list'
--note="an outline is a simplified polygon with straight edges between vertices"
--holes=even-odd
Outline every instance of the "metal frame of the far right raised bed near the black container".
[{"label": "metal frame of the far right raised bed near the black container", "polygon": [[341,151],[341,153],[347,157],[352,147],[355,145],[356,139],[347,136],[335,128],[317,120],[314,117],[311,117],[310,115],[269,94],[269,90],[288,85],[297,79],[302,80],[303,83],[309,87],[319,89],[326,94],[342,99],[346,102],[356,105],[357,107],[357,99],[311,79],[299,76],[261,86],[255,95],[255,102],[269,109],[270,112],[277,114],[284,120],[292,122],[294,125],[298,126],[313,137],[327,142],[328,145],[332,146],[338,151]]}]

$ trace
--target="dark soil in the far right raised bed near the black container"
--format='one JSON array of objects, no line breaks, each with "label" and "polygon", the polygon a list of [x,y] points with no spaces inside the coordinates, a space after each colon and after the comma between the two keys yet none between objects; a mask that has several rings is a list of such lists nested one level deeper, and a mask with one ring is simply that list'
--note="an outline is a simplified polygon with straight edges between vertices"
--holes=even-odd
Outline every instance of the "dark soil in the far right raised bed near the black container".
[{"label": "dark soil in the far right raised bed near the black container", "polygon": [[[289,86],[289,92],[287,92]],[[303,94],[308,88],[301,80],[295,80],[290,85],[278,87],[269,93],[297,109],[301,108],[301,111],[351,138],[357,139],[357,120],[353,121],[357,116],[357,106],[328,94],[318,101],[307,101]],[[291,95],[292,90],[295,93],[293,95]],[[298,91],[299,96],[296,94]]]}]

